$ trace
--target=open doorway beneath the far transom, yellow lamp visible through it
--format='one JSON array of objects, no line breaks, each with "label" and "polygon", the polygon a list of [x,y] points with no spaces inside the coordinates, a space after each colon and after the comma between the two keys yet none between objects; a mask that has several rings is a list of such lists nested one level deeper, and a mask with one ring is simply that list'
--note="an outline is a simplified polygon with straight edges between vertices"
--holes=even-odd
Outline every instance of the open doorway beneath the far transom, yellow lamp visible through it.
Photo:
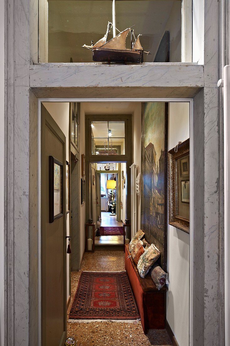
[{"label": "open doorway beneath the far transom, yellow lamp visible through it", "polygon": [[93,192],[95,183],[98,217],[95,246],[123,245],[123,224],[126,220],[126,163],[98,162],[91,165],[91,169],[92,167],[95,167],[96,179],[94,181],[92,173],[91,191]]}]

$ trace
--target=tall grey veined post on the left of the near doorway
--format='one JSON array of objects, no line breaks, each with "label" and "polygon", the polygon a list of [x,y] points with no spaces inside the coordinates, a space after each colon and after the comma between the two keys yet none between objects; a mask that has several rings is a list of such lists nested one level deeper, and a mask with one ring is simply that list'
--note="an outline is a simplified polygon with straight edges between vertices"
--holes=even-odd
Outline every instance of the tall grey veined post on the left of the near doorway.
[{"label": "tall grey veined post on the left of the near doorway", "polygon": [[5,345],[29,345],[29,1],[6,1]]}]

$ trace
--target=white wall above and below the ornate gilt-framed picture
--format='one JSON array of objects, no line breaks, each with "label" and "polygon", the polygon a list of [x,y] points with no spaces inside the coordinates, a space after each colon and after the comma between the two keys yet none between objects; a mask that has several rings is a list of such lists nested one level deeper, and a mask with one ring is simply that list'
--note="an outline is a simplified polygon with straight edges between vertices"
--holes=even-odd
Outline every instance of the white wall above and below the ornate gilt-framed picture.
[{"label": "white wall above and below the ornate gilt-framed picture", "polygon": [[[189,138],[189,103],[170,102],[168,150]],[[189,345],[189,234],[168,224],[166,319],[180,346]]]}]

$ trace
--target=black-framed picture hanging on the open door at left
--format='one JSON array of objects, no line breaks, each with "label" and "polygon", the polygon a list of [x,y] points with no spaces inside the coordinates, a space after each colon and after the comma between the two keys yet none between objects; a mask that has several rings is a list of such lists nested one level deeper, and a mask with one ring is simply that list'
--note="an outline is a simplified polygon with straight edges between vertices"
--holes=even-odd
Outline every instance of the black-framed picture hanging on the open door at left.
[{"label": "black-framed picture hanging on the open door at left", "polygon": [[63,163],[49,156],[49,222],[63,216]]}]

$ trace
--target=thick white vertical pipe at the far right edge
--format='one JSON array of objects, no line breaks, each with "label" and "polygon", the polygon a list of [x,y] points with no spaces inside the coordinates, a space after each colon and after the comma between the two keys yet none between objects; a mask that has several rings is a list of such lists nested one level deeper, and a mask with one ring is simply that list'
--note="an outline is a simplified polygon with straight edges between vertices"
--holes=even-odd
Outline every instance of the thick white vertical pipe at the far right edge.
[{"label": "thick white vertical pipe at the far right edge", "polygon": [[230,65],[223,72],[218,86],[224,88],[224,319],[225,345],[230,345]]}]

